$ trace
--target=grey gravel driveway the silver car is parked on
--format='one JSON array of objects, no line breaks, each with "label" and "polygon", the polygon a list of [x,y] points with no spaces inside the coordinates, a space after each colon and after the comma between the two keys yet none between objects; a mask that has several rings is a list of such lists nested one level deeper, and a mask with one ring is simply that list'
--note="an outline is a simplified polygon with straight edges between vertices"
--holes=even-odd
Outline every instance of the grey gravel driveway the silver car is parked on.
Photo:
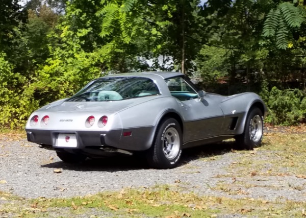
[{"label": "grey gravel driveway the silver car is parked on", "polygon": [[[230,143],[231,144],[231,143]],[[239,177],[229,166],[245,155],[231,152],[228,143],[214,144],[214,156],[208,147],[187,150],[182,164],[174,169],[149,169],[134,157],[87,160],[82,164],[66,164],[54,151],[38,148],[26,139],[0,139],[0,190],[25,198],[62,198],[85,196],[123,187],[149,187],[155,184],[180,184],[200,195],[231,198],[256,198],[273,201],[288,199],[306,201],[305,180],[294,176]],[[227,148],[226,148],[227,147]],[[206,157],[200,157],[199,154]],[[256,154],[265,159],[266,153]],[[62,173],[54,173],[55,169]],[[220,176],[222,175],[222,176]],[[247,188],[239,186],[247,182]],[[220,190],[218,184],[236,185],[235,193]],[[235,183],[235,184],[234,184]],[[288,185],[290,184],[290,185]],[[273,187],[271,187],[273,185]],[[302,187],[297,190],[293,187]]]}]

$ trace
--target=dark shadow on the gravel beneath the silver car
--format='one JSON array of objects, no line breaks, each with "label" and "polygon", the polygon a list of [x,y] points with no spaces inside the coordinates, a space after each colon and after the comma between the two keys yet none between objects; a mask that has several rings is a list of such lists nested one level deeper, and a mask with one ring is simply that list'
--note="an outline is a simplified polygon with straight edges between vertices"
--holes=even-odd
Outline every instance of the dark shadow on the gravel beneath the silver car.
[{"label": "dark shadow on the gravel beneath the silver car", "polygon": [[[225,141],[214,144],[206,144],[195,148],[183,150],[183,154],[180,160],[180,165],[197,160],[199,158],[208,158],[213,156],[223,155],[231,152],[235,143],[233,141]],[[149,169],[143,156],[114,156],[105,157],[100,159],[87,159],[86,161],[78,164],[69,164],[63,161],[54,163],[48,163],[41,165],[41,167],[48,168],[63,168],[71,171],[105,171],[105,172],[117,172],[117,171],[130,171],[137,169]]]}]

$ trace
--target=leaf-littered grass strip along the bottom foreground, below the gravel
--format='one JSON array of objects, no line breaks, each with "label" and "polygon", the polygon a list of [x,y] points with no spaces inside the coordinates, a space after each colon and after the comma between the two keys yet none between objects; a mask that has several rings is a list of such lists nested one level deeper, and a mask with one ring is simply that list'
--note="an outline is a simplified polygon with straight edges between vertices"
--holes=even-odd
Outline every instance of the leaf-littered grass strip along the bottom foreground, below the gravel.
[{"label": "leaf-littered grass strip along the bottom foreground, below the gravel", "polygon": [[[15,205],[15,208],[14,208]],[[232,199],[198,196],[178,191],[174,186],[102,192],[97,195],[68,199],[39,198],[21,204],[0,207],[0,215],[13,217],[218,217],[240,214],[247,217],[301,217],[306,203],[292,201],[267,202],[260,199]],[[2,212],[2,214],[1,214]]]}]

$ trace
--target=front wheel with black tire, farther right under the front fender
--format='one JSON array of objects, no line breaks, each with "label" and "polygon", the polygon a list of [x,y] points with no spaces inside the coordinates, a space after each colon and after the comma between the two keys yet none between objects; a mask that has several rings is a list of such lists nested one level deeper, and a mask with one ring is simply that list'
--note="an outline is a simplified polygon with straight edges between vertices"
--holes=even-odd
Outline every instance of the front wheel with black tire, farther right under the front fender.
[{"label": "front wheel with black tire, farther right under the front fender", "polygon": [[246,120],[244,132],[236,136],[237,148],[241,150],[253,150],[262,143],[264,135],[264,117],[259,108],[250,109]]}]

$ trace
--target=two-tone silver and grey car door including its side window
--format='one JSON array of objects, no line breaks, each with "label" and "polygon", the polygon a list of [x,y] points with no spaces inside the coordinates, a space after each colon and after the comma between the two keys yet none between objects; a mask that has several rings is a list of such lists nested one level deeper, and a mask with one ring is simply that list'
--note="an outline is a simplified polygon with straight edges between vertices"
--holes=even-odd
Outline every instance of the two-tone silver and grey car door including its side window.
[{"label": "two-tone silver and grey car door including its side window", "polygon": [[184,143],[220,135],[224,114],[218,95],[199,98],[197,91],[182,77],[165,80],[170,93],[178,100],[184,123]]}]

